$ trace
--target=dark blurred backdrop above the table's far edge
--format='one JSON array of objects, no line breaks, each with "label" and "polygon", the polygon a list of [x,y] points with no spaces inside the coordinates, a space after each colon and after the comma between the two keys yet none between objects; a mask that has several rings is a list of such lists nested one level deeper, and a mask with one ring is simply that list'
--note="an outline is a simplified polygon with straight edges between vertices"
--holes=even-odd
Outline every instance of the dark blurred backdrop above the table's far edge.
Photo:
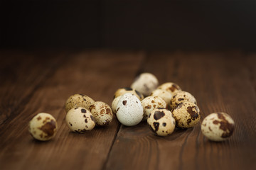
[{"label": "dark blurred backdrop above the table's far edge", "polygon": [[256,50],[256,1],[1,1],[1,49]]}]

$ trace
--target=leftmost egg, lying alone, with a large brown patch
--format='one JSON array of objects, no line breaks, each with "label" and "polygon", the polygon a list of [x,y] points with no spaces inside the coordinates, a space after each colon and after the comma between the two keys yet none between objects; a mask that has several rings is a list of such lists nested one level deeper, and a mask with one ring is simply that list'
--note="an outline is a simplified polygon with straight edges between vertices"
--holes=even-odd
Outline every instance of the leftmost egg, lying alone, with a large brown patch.
[{"label": "leftmost egg, lying alone, with a large brown patch", "polygon": [[38,113],[28,124],[28,131],[36,140],[50,140],[57,131],[57,122],[53,115]]}]

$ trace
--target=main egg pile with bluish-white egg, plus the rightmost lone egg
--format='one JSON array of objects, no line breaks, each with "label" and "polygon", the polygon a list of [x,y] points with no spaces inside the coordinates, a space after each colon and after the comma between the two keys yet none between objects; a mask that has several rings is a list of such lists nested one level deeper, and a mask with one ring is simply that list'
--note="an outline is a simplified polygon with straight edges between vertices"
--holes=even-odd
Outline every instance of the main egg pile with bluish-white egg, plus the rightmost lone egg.
[{"label": "main egg pile with bluish-white egg, plus the rightmost lone egg", "polygon": [[[139,74],[130,87],[117,89],[111,107],[122,125],[146,120],[159,136],[170,135],[175,128],[193,128],[201,119],[192,94],[173,82],[159,85],[151,73]],[[201,123],[201,131],[210,140],[225,140],[233,134],[234,121],[226,113],[212,113]]]}]

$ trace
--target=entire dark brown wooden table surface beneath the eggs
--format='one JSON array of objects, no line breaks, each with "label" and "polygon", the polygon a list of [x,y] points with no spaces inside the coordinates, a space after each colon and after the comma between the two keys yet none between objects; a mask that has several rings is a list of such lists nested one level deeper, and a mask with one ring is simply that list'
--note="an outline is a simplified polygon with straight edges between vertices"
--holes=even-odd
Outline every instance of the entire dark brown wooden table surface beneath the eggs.
[{"label": "entire dark brown wooden table surface beneath the eggs", "polygon": [[[256,169],[256,55],[244,52],[0,52],[0,169]],[[145,122],[117,118],[106,128],[70,132],[64,104],[86,94],[111,105],[114,92],[140,72],[173,81],[198,101],[201,121],[230,114],[235,132],[210,142],[200,125],[154,135]],[[28,122],[52,114],[57,135],[33,140]]]}]

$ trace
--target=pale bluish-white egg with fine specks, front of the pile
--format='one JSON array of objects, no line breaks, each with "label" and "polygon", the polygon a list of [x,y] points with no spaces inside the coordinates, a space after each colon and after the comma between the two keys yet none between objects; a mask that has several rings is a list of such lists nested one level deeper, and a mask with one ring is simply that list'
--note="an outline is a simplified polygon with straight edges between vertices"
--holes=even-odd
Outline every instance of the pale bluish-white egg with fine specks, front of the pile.
[{"label": "pale bluish-white egg with fine specks, front of the pile", "polygon": [[123,94],[117,103],[117,119],[127,126],[137,125],[142,121],[142,103],[134,94]]}]

